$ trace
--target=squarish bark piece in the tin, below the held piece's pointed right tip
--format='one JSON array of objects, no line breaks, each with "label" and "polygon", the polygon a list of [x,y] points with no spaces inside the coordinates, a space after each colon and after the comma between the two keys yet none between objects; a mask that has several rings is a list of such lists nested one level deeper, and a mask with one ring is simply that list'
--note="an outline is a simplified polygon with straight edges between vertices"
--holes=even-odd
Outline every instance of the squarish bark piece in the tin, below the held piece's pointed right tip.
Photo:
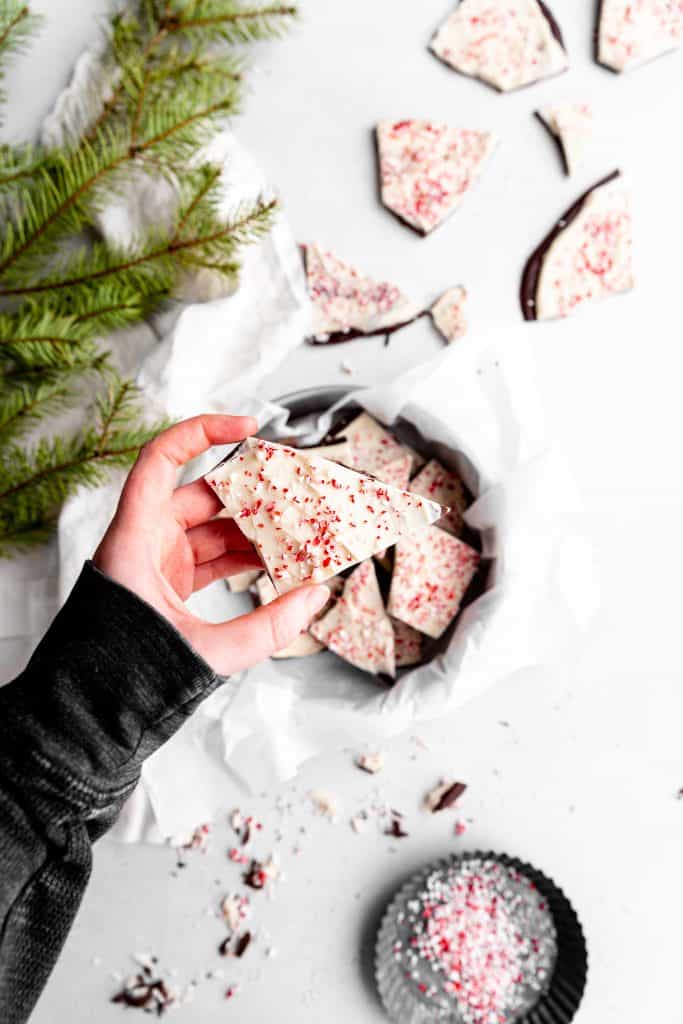
[{"label": "squarish bark piece in the tin, below the held piece's pointed right tip", "polygon": [[429,526],[396,545],[387,610],[437,639],[458,613],[479,564],[473,548]]}]

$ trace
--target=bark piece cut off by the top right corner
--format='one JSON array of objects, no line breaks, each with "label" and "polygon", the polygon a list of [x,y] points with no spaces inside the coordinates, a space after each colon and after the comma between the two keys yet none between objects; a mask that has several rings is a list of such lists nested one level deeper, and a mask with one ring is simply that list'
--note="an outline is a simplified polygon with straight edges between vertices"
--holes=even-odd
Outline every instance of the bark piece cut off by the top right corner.
[{"label": "bark piece cut off by the top right corner", "polygon": [[679,0],[601,0],[599,10],[597,59],[611,71],[632,71],[681,45]]}]

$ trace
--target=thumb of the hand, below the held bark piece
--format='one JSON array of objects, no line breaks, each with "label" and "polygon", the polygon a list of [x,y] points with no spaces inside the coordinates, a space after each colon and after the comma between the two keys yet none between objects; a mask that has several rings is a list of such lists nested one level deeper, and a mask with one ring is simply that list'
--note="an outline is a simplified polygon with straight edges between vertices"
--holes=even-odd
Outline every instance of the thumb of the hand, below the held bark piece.
[{"label": "thumb of the hand, below the held bark piece", "polygon": [[329,598],[327,587],[300,587],[230,623],[198,622],[191,640],[220,675],[241,672],[289,646]]}]

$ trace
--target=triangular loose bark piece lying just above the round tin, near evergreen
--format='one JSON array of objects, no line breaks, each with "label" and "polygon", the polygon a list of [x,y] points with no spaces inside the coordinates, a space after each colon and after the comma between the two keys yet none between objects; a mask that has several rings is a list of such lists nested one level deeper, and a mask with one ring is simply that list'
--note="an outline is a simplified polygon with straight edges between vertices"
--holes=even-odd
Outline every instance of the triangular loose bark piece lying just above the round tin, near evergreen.
[{"label": "triangular loose bark piece lying just above the round tin, near evergreen", "polygon": [[303,246],[316,345],[392,334],[424,310],[396,285],[375,281],[316,245]]}]

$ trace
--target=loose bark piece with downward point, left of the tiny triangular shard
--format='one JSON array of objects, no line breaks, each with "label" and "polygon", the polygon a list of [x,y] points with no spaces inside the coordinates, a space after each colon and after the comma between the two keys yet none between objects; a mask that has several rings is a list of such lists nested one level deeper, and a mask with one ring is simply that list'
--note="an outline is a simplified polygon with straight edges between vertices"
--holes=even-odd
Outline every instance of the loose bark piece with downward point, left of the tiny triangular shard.
[{"label": "loose bark piece with downward point, left of the tiny triangular shard", "polygon": [[495,145],[490,132],[433,121],[382,121],[377,151],[384,206],[428,234],[460,206]]}]

